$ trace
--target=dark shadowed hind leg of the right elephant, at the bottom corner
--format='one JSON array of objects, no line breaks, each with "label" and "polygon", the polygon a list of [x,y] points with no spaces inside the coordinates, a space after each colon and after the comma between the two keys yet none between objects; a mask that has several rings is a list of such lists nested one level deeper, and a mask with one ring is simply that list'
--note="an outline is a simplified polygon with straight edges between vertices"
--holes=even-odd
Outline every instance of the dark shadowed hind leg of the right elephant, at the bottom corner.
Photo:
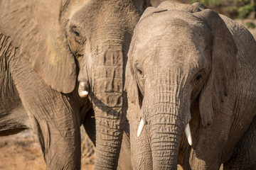
[{"label": "dark shadowed hind leg of the right elephant, at the bottom corner", "polygon": [[256,116],[224,169],[256,169]]}]

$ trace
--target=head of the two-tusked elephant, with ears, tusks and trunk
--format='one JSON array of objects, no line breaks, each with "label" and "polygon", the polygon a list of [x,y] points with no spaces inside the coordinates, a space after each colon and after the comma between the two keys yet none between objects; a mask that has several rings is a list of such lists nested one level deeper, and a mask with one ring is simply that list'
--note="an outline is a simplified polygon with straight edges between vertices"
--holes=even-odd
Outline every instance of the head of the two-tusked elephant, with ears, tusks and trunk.
[{"label": "head of the two-tusked elephant, with ears, tusks and trunk", "polygon": [[128,114],[141,118],[138,132],[131,133],[138,139],[149,134],[153,169],[177,168],[185,129],[193,145],[189,122],[194,103],[202,125],[213,122],[228,94],[235,55],[233,37],[215,11],[170,1],[146,9],[134,29],[125,90],[128,109],[135,110]]}]

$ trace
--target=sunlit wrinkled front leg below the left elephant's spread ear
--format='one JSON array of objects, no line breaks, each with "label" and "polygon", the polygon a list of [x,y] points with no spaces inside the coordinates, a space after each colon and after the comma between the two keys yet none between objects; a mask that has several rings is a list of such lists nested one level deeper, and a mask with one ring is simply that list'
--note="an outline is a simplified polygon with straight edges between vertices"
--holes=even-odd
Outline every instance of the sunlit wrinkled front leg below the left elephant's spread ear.
[{"label": "sunlit wrinkled front leg below the left elephant's spread ear", "polygon": [[80,169],[80,123],[72,98],[50,89],[21,57],[10,61],[10,69],[48,169]]}]

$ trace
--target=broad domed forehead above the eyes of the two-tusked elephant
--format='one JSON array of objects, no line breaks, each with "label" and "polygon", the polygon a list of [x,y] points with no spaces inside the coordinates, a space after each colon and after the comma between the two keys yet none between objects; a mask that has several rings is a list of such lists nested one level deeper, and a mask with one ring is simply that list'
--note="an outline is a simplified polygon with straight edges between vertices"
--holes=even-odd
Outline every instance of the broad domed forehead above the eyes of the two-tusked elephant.
[{"label": "broad domed forehead above the eyes of the two-tusked elephant", "polygon": [[204,21],[183,11],[162,13],[139,23],[132,42],[134,61],[146,62],[149,68],[156,63],[174,64],[171,61],[183,65],[199,62],[205,53],[208,54],[213,34]]}]

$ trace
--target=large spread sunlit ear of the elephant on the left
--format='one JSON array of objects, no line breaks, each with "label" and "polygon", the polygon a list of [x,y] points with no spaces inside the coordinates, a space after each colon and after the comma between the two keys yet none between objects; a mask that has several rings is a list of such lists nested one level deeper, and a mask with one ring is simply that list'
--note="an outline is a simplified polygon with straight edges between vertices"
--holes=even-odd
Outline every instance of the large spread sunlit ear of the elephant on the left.
[{"label": "large spread sunlit ear of the elephant on the left", "polygon": [[2,0],[0,32],[53,89],[75,88],[76,66],[60,26],[60,1]]}]

